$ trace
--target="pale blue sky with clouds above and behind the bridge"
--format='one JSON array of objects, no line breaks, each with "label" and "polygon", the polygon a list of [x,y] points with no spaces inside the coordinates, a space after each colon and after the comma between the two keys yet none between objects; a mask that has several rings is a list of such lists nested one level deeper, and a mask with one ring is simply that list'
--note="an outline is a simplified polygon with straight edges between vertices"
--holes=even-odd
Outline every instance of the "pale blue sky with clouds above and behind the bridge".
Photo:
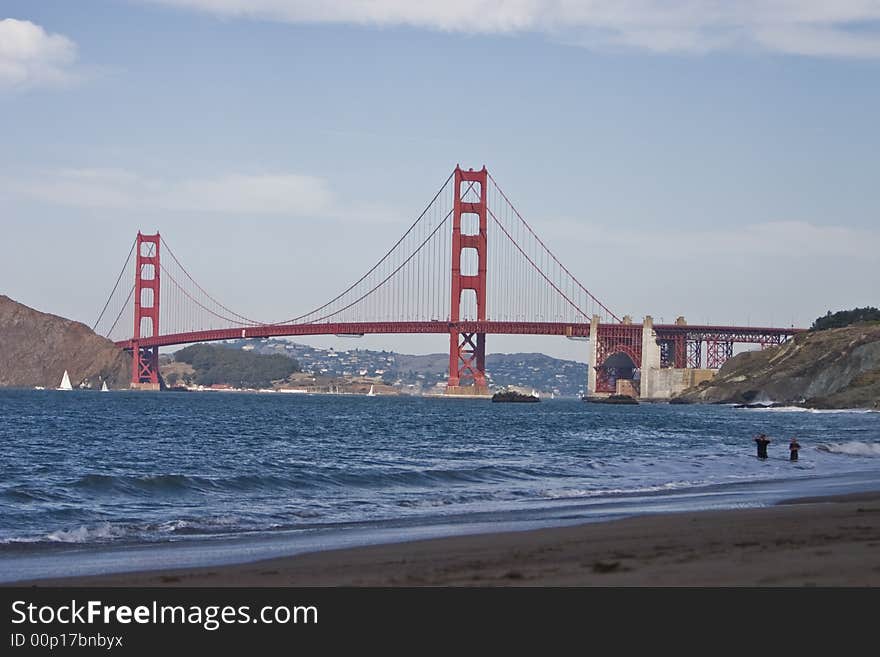
[{"label": "pale blue sky with clouds above and behind the bridge", "polygon": [[880,3],[825,4],[2,0],[0,292],[90,324],[159,229],[230,307],[294,316],[461,163],[618,314],[880,305]]}]

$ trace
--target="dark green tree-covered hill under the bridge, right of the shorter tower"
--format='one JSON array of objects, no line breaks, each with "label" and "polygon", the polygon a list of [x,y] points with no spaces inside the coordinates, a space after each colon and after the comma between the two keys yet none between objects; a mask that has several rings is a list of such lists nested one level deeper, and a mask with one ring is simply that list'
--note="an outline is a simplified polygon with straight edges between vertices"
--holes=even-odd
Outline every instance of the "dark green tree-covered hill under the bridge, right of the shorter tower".
[{"label": "dark green tree-covered hill under the bridge, right of the shorter tower", "polygon": [[280,354],[263,356],[241,349],[195,344],[174,354],[196,371],[203,386],[228,384],[241,388],[265,388],[299,371],[299,363]]}]

